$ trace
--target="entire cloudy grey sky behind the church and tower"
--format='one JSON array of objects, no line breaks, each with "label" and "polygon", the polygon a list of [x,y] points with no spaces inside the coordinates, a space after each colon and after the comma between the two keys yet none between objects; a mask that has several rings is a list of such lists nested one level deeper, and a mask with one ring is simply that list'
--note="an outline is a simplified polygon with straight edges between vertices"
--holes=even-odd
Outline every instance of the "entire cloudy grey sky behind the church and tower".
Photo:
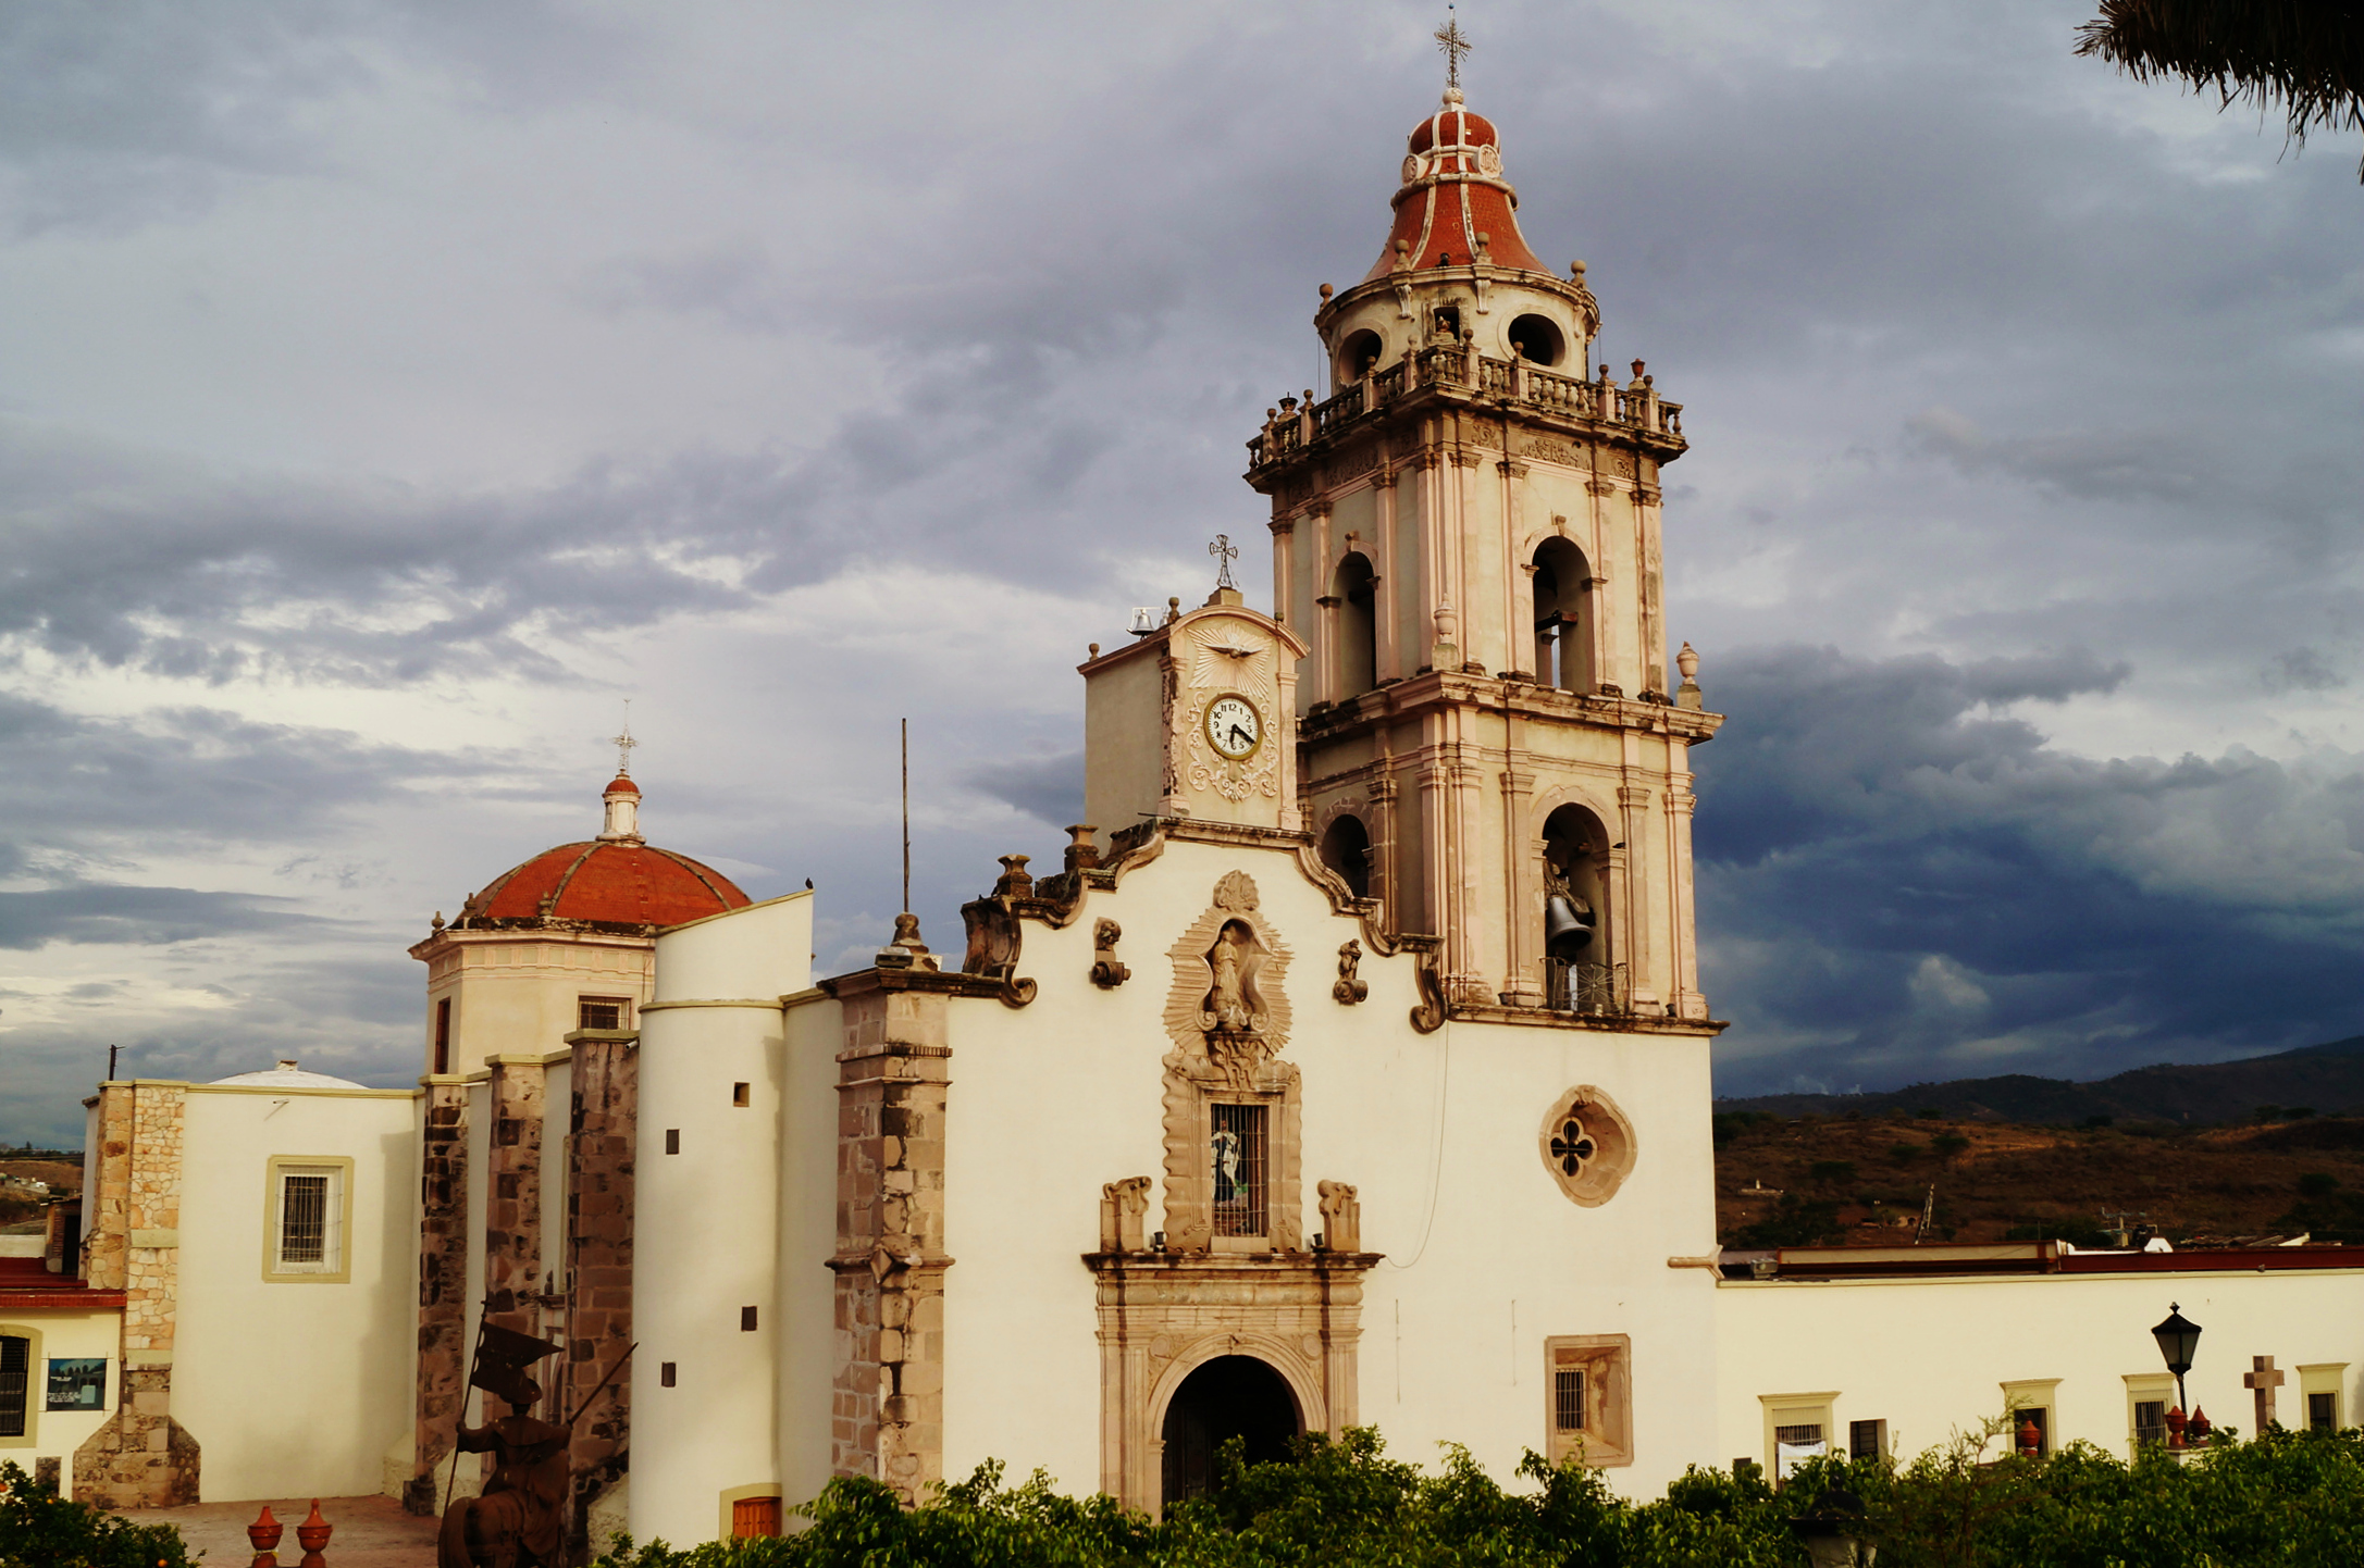
[{"label": "entire cloudy grey sky behind the church and tower", "polygon": [[[0,1138],[418,1070],[598,819],[823,966],[1057,857],[1071,666],[1262,541],[1430,5],[0,9]],[[1522,224],[1686,404],[1726,1093],[2364,1030],[2364,146],[2090,5],[1470,0]],[[1248,550],[1251,588],[1267,571]]]}]

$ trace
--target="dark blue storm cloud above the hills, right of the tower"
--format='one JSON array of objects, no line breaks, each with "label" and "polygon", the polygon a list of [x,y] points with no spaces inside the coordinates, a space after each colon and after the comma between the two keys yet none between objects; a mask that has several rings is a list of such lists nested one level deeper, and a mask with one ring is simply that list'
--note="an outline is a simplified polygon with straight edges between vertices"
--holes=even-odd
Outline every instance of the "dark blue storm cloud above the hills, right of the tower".
[{"label": "dark blue storm cloud above the hills, right of the tower", "polygon": [[[2364,765],[2095,760],[1990,704],[2083,654],[1728,659],[1695,758],[1719,1089],[2102,1074],[2355,1032]],[[2007,1065],[1998,1065],[2007,1063]]]}]

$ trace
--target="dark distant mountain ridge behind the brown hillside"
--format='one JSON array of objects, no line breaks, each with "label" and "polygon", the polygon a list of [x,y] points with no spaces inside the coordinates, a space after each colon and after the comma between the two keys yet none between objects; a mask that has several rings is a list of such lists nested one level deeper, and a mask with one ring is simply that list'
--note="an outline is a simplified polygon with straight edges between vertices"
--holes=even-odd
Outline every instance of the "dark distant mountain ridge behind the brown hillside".
[{"label": "dark distant mountain ridge behind the brown hillside", "polygon": [[2196,1067],[2135,1067],[2092,1084],[2012,1072],[1990,1079],[1912,1084],[1891,1093],[1759,1093],[1716,1100],[1719,1112],[1775,1117],[1884,1117],[1938,1112],[1948,1122],[2080,1124],[2173,1122],[2220,1126],[2253,1122],[2258,1110],[2364,1112],[2364,1034],[2321,1046]]}]

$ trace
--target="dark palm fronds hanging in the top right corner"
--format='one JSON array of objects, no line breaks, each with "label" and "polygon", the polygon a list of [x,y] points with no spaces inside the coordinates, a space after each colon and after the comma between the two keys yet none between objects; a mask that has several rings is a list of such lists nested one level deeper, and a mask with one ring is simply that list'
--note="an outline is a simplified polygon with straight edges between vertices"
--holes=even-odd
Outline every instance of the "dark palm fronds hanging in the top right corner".
[{"label": "dark palm fronds hanging in the top right corner", "polygon": [[2076,52],[2137,83],[2215,90],[2227,109],[2279,109],[2298,144],[2312,128],[2364,130],[2364,7],[2350,0],[2102,0]]}]

